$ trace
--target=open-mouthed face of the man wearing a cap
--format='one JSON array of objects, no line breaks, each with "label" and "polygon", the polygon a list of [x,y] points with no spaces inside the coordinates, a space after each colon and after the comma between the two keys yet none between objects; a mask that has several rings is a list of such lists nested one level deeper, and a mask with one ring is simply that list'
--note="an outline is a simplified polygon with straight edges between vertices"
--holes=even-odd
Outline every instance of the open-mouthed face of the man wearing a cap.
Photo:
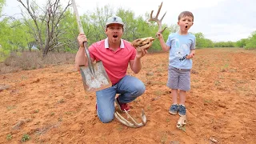
[{"label": "open-mouthed face of the man wearing a cap", "polygon": [[110,42],[120,42],[123,34],[122,25],[118,23],[110,24],[106,27],[105,33]]}]

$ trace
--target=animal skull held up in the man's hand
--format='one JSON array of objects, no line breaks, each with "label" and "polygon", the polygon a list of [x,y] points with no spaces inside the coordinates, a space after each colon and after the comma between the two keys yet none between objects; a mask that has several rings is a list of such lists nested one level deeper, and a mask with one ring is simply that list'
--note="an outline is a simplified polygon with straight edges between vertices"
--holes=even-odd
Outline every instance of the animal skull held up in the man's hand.
[{"label": "animal skull held up in the man's hand", "polygon": [[154,38],[152,37],[138,38],[131,42],[131,46],[134,46],[137,51],[148,50],[152,46],[153,41]]}]

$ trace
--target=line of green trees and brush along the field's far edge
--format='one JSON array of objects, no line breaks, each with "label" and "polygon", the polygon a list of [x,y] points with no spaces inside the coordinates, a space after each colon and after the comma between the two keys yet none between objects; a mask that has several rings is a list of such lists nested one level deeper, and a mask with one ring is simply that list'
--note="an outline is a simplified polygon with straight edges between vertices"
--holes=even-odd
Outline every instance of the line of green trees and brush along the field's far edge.
[{"label": "line of green trees and brush along the field's far edge", "polygon": [[[42,57],[49,52],[71,52],[78,50],[78,25],[73,13],[72,4],[68,2],[62,6],[59,0],[48,0],[45,6],[38,6],[35,1],[17,0],[22,6],[22,18],[13,18],[2,14],[6,0],[0,0],[0,61],[8,57],[13,51],[32,50],[33,46],[41,51]],[[106,19],[118,15],[125,23],[123,39],[132,42],[137,38],[154,37],[158,31],[156,22],[147,22],[150,14],[135,17],[131,10],[103,6],[96,7],[92,12],[81,15],[82,26],[88,38],[88,44],[106,38]],[[178,25],[166,25],[164,38],[178,30]],[[256,48],[256,31],[249,38],[238,42],[213,42],[202,33],[195,34],[197,48],[210,47],[244,47]],[[153,43],[150,51],[160,51],[158,41]]]}]

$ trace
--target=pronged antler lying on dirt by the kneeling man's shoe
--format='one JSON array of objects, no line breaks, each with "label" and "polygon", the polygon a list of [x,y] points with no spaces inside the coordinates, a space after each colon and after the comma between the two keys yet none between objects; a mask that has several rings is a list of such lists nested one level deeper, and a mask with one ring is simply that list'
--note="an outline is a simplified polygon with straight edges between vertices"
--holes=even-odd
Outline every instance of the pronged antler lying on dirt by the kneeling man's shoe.
[{"label": "pronged antler lying on dirt by the kneeling man's shoe", "polygon": [[141,127],[141,126],[145,126],[146,125],[146,115],[144,113],[144,110],[142,109],[142,122],[138,123],[134,120],[134,118],[132,118],[130,116],[130,114],[127,113],[127,111],[125,110],[126,115],[128,117],[128,119],[130,118],[131,122],[129,122],[126,118],[123,118],[121,114],[119,114],[118,112],[114,113],[115,118],[118,119],[119,122],[121,122],[122,124],[129,126],[129,127]]}]

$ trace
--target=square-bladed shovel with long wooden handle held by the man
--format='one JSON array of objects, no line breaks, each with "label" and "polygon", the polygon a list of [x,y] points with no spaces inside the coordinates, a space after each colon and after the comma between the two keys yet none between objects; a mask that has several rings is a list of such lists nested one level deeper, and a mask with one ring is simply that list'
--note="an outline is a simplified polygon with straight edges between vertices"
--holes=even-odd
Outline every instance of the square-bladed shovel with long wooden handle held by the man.
[{"label": "square-bladed shovel with long wooden handle held by the man", "polygon": [[[78,22],[79,32],[84,34],[82,29],[82,22],[80,21],[78,9],[74,0],[72,0],[72,5],[74,8],[74,14]],[[79,66],[80,74],[82,75],[82,83],[83,83],[84,89],[86,91],[98,91],[98,90],[103,90],[112,86],[110,78],[106,74],[106,70],[104,69],[104,66],[102,64],[102,61],[92,62],[90,59],[89,50],[86,46],[87,43],[84,42],[83,44],[84,44],[86,56],[88,59],[88,66],[84,66],[84,65]]]}]

